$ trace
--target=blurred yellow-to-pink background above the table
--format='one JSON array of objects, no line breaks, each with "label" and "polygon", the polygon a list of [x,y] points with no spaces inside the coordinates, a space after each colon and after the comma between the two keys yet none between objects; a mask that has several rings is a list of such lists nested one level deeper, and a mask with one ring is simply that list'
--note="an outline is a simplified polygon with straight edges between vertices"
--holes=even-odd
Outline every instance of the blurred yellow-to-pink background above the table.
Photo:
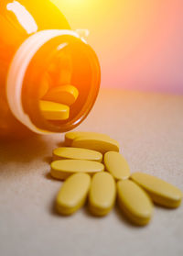
[{"label": "blurred yellow-to-pink background above the table", "polygon": [[88,28],[102,86],[183,94],[182,0],[51,0]]}]

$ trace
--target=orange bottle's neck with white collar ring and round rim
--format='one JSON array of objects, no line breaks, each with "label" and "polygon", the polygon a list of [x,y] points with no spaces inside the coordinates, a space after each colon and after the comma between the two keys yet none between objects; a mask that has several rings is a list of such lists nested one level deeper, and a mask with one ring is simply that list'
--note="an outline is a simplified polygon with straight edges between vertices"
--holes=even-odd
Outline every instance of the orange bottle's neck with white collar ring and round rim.
[{"label": "orange bottle's neck with white collar ring and round rim", "polygon": [[[46,120],[39,108],[39,86],[48,65],[64,47],[73,61],[72,80],[80,98],[65,121]],[[30,130],[45,134],[64,132],[87,117],[100,86],[100,66],[94,51],[71,30],[43,30],[29,37],[16,51],[6,82],[6,95],[14,116]]]}]

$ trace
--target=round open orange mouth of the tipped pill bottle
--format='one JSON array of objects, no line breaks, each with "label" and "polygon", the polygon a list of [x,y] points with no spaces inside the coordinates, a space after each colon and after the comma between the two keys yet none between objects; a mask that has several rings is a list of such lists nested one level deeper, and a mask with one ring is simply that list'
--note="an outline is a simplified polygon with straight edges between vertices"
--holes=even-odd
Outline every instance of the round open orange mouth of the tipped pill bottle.
[{"label": "round open orange mouth of the tipped pill bottle", "polygon": [[[39,101],[41,86],[44,89],[45,84],[49,90],[64,85],[76,88],[79,94],[70,106],[68,118],[48,120],[44,117]],[[37,128],[68,131],[87,117],[98,95],[99,85],[99,62],[91,47],[81,39],[59,36],[43,45],[30,61],[22,88],[23,108]]]}]

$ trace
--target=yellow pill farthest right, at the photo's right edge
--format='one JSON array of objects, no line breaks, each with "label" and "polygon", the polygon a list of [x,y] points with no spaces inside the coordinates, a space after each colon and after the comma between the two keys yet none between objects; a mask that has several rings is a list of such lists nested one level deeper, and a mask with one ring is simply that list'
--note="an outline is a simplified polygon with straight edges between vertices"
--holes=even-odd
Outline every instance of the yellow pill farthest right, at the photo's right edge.
[{"label": "yellow pill farthest right, at the photo's right edge", "polygon": [[156,204],[170,208],[180,205],[182,192],[174,185],[146,173],[133,173],[131,179],[141,185]]}]

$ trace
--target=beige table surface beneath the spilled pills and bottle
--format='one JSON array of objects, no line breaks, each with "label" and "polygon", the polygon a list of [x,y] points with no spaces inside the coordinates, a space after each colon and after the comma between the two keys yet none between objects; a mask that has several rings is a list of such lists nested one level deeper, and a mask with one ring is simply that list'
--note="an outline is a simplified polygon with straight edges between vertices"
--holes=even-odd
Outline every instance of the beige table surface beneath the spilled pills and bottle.
[{"label": "beige table surface beneath the spilled pills and bottle", "polygon": [[[110,135],[131,172],[155,174],[183,188],[183,96],[103,89],[79,130]],[[144,228],[117,207],[92,217],[87,207],[60,217],[54,200],[61,182],[48,175],[63,135],[0,143],[0,255],[183,255],[183,206],[155,207]]]}]

